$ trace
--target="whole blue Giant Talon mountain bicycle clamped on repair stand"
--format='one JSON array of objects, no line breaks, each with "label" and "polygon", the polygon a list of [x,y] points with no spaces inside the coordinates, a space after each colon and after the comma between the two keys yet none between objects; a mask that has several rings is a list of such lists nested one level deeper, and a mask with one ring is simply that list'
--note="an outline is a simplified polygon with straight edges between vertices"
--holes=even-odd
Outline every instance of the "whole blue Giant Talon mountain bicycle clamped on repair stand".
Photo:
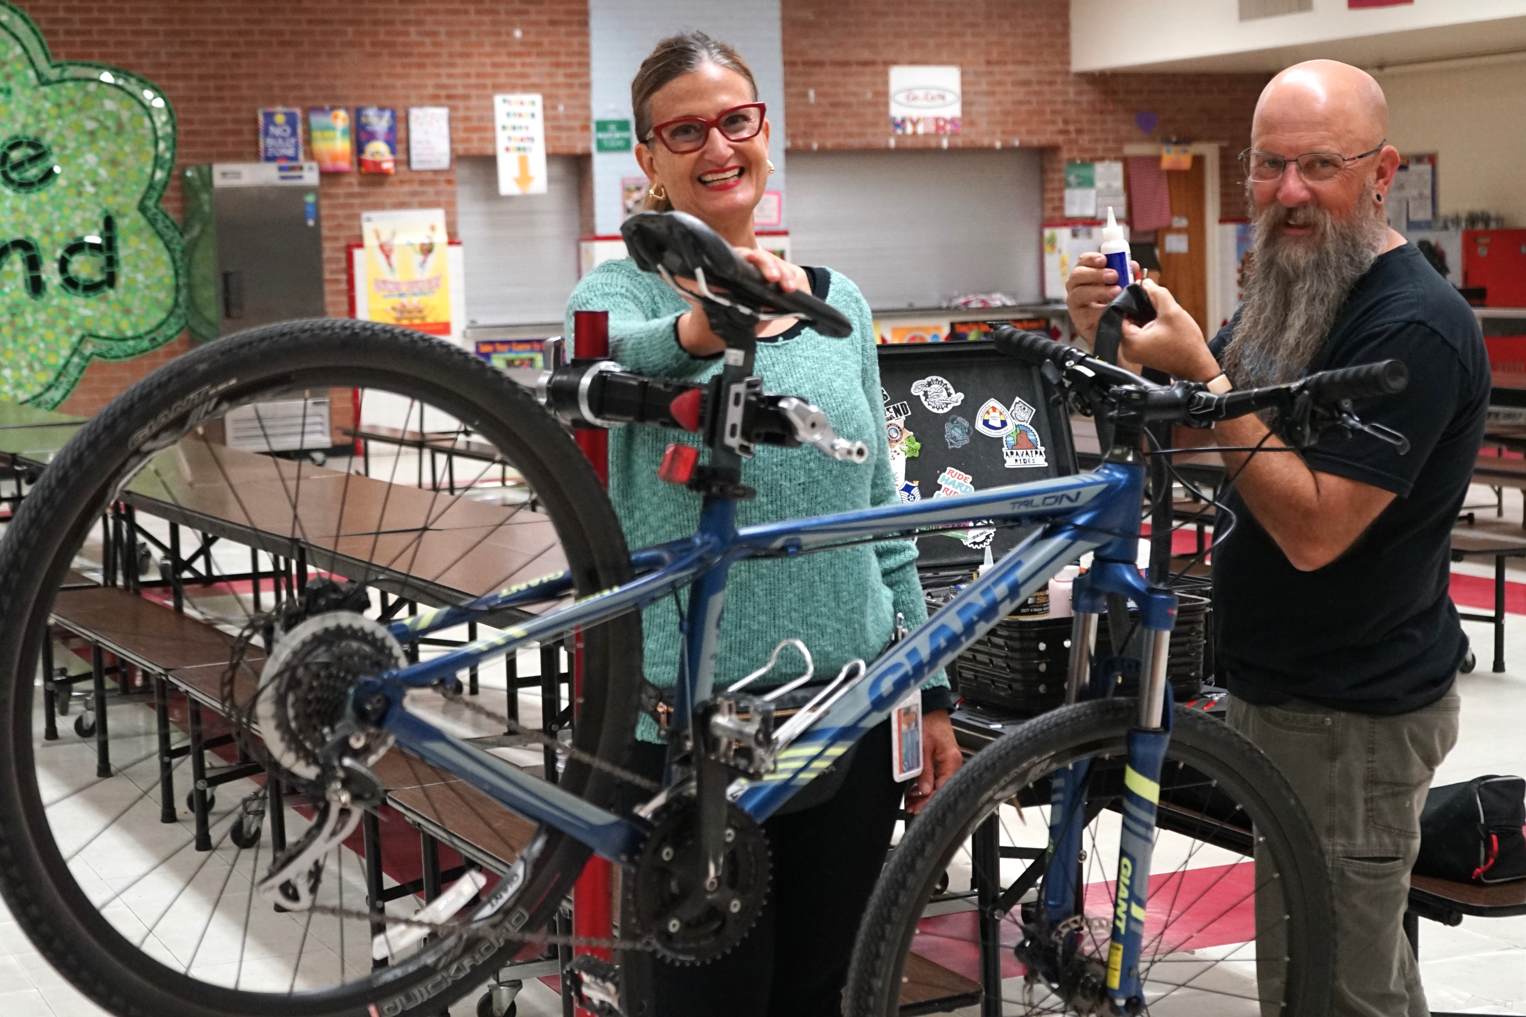
[{"label": "whole blue Giant Talon mountain bicycle clamped on repair stand", "polygon": [[[52,965],[118,1014],[438,1014],[526,942],[559,939],[546,929],[592,852],[623,871],[618,939],[598,944],[621,964],[580,962],[578,991],[598,1012],[650,1014],[624,985],[644,953],[705,962],[757,918],[760,823],[1091,552],[1076,582],[1068,704],[978,753],[908,826],[845,1005],[1322,1012],[1331,922],[1314,831],[1250,743],[1169,695],[1175,596],[1134,564],[1141,428],[1271,409],[1289,441],[1308,442],[1358,428],[1347,399],[1401,389],[1402,366],[1221,396],[1007,329],[1001,351],[1042,364],[1108,422],[1097,470],[737,528],[755,445],[858,464],[862,439],[884,441],[836,436],[819,410],[752,375],[758,319],[795,316],[824,335],[845,335],[847,322],[763,284],[687,217],[636,217],[626,236],[638,264],[702,300],[728,343],[723,366],[694,383],[552,363],[542,396],[566,421],[699,432],[708,459],[665,467],[702,499],[699,531],[684,540],[627,550],[592,470],[525,389],[446,343],[374,323],[285,323],[192,351],[61,451],[0,546],[0,881]],[[1105,328],[1125,313],[1152,311],[1126,291]],[[282,438],[308,435],[310,415],[322,416],[322,465]],[[450,479],[426,483],[424,464],[441,453]],[[166,564],[172,575],[156,585],[119,547],[124,518],[191,564]],[[971,525],[1033,532],[879,659],[827,682],[809,671],[774,686],[714,682],[736,563]],[[185,531],[198,549],[182,549]],[[272,610],[259,596],[276,572]],[[200,706],[191,714],[197,747],[223,746],[226,764],[215,779],[192,773],[209,829],[174,799],[188,756],[171,744],[185,729],[171,709],[180,700],[156,714],[127,668],[110,694],[98,669],[96,739],[60,739],[49,726],[70,675],[40,662],[81,653],[58,622],[90,579],[159,590],[165,611],[172,601],[232,646],[211,686],[221,739],[206,741]],[[668,703],[641,680],[638,608],[685,593]],[[1109,596],[1134,604],[1138,631],[1114,628],[1105,654]],[[1143,646],[1135,665],[1131,645]],[[539,648],[554,674],[559,646],[580,677],[571,733],[554,691],[540,723],[517,714],[520,668]],[[195,671],[163,680],[204,697]],[[1132,689],[1125,675],[1138,675]],[[464,688],[479,682],[507,689],[510,715]],[[662,775],[629,768],[642,712],[668,743]],[[108,743],[107,765],[98,750]],[[395,877],[404,886],[383,893],[382,874],[357,860],[382,849],[380,834],[359,843],[362,816],[404,799],[462,852],[443,893],[427,875],[423,890]],[[482,831],[502,843],[484,846]]]}]

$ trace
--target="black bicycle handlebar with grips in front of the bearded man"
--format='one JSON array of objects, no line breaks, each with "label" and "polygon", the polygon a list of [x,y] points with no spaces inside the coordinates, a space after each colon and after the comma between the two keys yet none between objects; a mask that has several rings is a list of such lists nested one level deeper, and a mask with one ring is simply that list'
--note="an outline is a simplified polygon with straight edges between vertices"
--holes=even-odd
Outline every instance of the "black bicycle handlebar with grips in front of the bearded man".
[{"label": "black bicycle handlebar with grips in front of the bearded man", "polygon": [[1131,371],[1088,357],[1074,346],[1056,343],[1036,332],[1019,332],[1004,326],[996,329],[992,338],[996,349],[1009,357],[1047,367],[1056,372],[1051,381],[1064,381],[1068,387],[1080,389],[1099,399],[1108,407],[1112,422],[1123,427],[1152,422],[1212,427],[1215,421],[1276,409],[1283,412],[1291,444],[1296,447],[1314,444],[1323,430],[1343,427],[1398,445],[1401,453],[1408,450],[1402,435],[1381,425],[1363,424],[1349,406],[1351,399],[1402,392],[1410,374],[1398,360],[1322,371],[1286,384],[1215,395],[1195,381],[1154,384]]}]

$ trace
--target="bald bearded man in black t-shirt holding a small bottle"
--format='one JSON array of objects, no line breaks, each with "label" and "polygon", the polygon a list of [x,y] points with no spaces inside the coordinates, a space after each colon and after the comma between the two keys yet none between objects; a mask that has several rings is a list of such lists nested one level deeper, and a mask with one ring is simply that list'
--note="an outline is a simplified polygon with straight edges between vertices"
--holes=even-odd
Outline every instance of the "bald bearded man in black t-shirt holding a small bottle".
[{"label": "bald bearded man in black t-shirt holding a small bottle", "polygon": [[[1357,406],[1408,438],[1404,454],[1369,435],[1250,454],[1233,450],[1283,447],[1267,422],[1213,428],[1238,520],[1213,553],[1213,599],[1230,723],[1288,776],[1325,843],[1335,1012],[1419,1017],[1428,1008],[1402,915],[1421,807],[1457,736],[1466,642],[1448,547],[1489,367],[1466,303],[1387,227],[1399,154],[1386,133],[1383,90],[1355,67],[1309,61],[1273,78],[1242,157],[1256,221],[1244,306],[1209,345],[1146,284],[1158,317],[1128,325],[1122,354],[1212,390],[1390,357],[1408,366],[1404,393]],[[1085,255],[1067,282],[1088,337],[1117,293],[1102,265]],[[1228,512],[1219,518],[1222,532]]]}]

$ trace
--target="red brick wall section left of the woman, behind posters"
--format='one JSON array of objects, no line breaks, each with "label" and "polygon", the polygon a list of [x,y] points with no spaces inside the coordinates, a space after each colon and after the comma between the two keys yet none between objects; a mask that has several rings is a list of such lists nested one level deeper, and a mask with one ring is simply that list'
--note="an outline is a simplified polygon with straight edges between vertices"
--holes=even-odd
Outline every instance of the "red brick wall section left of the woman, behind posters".
[{"label": "red brick wall section left of the woman, behind posters", "polygon": [[[446,209],[456,230],[453,171],[407,169],[406,108],[450,107],[456,156],[493,152],[493,99],[540,91],[552,154],[589,151],[586,0],[20,0],[55,59],[134,70],[163,88],[179,122],[182,166],[258,159],[255,110],[383,105],[398,110],[395,175],[324,174],[324,282],[345,314],[345,244],[360,212]],[[517,32],[517,35],[516,35]],[[165,195],[180,215],[179,177]],[[93,413],[175,352],[182,338],[125,363],[95,361],[63,407]]]}]

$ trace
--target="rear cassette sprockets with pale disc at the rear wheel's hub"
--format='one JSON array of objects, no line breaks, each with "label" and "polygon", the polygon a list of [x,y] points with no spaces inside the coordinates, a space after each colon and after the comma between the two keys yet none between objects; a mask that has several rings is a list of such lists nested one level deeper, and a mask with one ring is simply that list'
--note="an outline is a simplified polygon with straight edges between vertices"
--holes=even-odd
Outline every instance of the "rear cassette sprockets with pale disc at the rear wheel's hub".
[{"label": "rear cassette sprockets with pale disc at the rear wheel's hub", "polygon": [[[363,614],[325,611],[293,627],[266,662],[253,703],[266,749],[288,773],[316,781],[356,682],[406,666],[392,633]],[[391,747],[389,733],[366,730],[345,755],[371,765]]]}]

